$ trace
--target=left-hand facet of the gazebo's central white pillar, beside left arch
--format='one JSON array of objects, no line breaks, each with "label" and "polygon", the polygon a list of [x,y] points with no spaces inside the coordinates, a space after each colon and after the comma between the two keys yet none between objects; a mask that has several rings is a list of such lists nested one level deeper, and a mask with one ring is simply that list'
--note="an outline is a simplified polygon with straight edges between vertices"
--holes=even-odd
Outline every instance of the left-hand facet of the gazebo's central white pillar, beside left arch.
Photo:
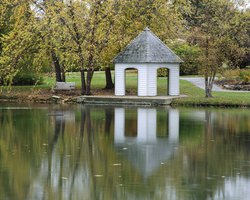
[{"label": "left-hand facet of the gazebo's central white pillar, beside left arch", "polygon": [[147,81],[148,72],[147,67],[142,65],[138,67],[138,96],[147,96]]}]

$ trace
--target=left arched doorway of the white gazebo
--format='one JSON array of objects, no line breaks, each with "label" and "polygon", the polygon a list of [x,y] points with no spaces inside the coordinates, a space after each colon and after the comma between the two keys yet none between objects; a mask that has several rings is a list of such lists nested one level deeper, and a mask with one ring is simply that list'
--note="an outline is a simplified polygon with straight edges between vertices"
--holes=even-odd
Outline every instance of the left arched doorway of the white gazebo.
[{"label": "left arched doorway of the white gazebo", "polygon": [[138,95],[138,70],[136,68],[125,69],[125,95]]}]

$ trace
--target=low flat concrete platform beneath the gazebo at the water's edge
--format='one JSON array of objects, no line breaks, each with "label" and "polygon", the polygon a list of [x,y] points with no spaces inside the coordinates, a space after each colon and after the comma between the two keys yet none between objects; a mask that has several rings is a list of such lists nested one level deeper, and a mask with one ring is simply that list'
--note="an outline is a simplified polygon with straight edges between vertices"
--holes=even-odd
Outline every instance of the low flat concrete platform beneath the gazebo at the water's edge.
[{"label": "low flat concrete platform beneath the gazebo at the water's edge", "polygon": [[173,99],[182,98],[179,96],[156,96],[156,97],[138,97],[138,96],[79,96],[77,103],[102,104],[102,105],[170,105]]}]

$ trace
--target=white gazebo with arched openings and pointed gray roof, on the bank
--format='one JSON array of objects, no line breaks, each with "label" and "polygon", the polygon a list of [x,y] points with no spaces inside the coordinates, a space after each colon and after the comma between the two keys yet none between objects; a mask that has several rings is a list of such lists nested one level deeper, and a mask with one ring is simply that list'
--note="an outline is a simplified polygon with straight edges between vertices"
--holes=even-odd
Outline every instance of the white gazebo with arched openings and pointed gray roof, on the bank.
[{"label": "white gazebo with arched openings and pointed gray roof, on the bank", "polygon": [[[149,28],[145,28],[113,60],[115,95],[125,96],[125,70],[138,70],[138,96],[157,96],[157,69],[169,69],[168,95],[179,95],[179,71],[183,62]],[[167,83],[166,83],[167,84]]]}]

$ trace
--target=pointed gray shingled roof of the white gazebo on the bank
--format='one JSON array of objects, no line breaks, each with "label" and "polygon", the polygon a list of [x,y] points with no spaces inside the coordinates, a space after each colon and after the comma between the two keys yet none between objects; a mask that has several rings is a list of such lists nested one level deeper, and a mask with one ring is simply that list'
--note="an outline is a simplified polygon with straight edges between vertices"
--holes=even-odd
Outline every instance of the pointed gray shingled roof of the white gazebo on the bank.
[{"label": "pointed gray shingled roof of the white gazebo on the bank", "polygon": [[183,62],[149,28],[145,28],[121,53],[114,63],[180,63]]}]

